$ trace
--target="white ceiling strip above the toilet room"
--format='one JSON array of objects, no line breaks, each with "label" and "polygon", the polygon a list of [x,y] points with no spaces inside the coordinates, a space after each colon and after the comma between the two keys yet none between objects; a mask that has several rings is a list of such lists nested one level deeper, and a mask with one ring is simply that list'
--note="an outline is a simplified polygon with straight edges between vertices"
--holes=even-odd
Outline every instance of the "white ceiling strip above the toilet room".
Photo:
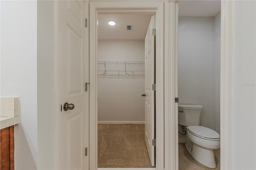
[{"label": "white ceiling strip above the toilet room", "polygon": [[180,0],[179,17],[213,17],[220,12],[220,0]]}]

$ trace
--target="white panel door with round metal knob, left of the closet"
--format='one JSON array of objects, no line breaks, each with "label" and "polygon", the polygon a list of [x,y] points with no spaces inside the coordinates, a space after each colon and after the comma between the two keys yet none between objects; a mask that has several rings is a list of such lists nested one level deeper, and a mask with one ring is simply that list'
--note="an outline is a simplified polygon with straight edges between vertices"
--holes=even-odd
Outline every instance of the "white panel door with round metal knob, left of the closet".
[{"label": "white panel door with round metal knob, left of the closet", "polygon": [[[88,2],[87,2],[88,3]],[[88,147],[88,28],[83,0],[59,1],[60,43],[60,169],[89,169]],[[64,103],[69,105],[64,111]]]}]

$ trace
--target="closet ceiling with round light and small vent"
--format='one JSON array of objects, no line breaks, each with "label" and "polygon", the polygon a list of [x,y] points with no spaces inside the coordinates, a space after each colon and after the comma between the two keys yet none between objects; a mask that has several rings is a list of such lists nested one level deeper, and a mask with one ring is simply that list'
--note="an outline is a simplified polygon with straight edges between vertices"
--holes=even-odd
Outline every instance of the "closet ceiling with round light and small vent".
[{"label": "closet ceiling with round light and small vent", "polygon": [[[100,14],[98,15],[98,40],[144,40],[151,15],[147,14]],[[116,25],[108,25],[115,20]],[[127,31],[126,26],[133,30]]]}]

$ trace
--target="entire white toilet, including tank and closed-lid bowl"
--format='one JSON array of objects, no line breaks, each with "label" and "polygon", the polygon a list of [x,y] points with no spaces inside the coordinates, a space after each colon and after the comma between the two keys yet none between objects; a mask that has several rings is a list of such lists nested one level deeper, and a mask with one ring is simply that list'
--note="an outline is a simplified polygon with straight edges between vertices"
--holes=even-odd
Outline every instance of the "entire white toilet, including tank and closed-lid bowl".
[{"label": "entire white toilet, including tank and closed-lid bowl", "polygon": [[200,125],[201,105],[178,105],[178,123],[187,128],[186,148],[201,164],[216,168],[214,149],[220,148],[220,135]]}]

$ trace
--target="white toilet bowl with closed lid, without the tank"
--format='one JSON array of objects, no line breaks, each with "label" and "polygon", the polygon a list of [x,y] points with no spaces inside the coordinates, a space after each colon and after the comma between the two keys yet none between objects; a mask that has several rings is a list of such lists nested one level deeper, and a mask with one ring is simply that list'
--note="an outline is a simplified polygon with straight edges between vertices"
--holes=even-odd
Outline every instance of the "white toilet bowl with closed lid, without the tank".
[{"label": "white toilet bowl with closed lid, without the tank", "polygon": [[186,143],[188,152],[198,162],[209,168],[216,168],[214,149],[220,148],[220,135],[214,130],[202,126],[189,126],[188,139]]}]

